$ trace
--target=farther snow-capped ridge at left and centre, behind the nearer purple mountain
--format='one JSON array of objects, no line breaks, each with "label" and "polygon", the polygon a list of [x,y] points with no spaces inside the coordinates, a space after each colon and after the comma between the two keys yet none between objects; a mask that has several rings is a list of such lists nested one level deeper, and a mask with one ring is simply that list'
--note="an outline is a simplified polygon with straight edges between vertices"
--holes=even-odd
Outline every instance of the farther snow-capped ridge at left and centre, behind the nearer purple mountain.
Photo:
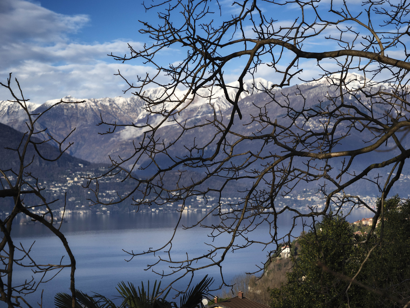
[{"label": "farther snow-capped ridge at left and centre, behind the nearer purple mountain", "polygon": [[[245,92],[241,94],[241,99],[251,97],[257,94],[257,90],[253,90],[253,80],[247,80],[244,84]],[[235,97],[237,83],[229,84],[231,87],[228,94],[231,98]],[[255,79],[255,86],[271,87],[271,83],[262,79]],[[173,95],[175,100],[186,95],[186,90],[175,90]],[[152,99],[159,98],[164,94],[164,89],[155,88],[146,91],[146,95]],[[185,105],[179,106],[175,111],[183,110],[183,115],[176,113],[175,119],[180,120],[182,117],[188,119],[203,119],[207,115],[212,115],[213,108],[216,112],[225,112],[232,108],[230,103],[224,98],[224,93],[221,89],[205,88],[198,91],[194,101],[188,99]],[[135,129],[129,127],[125,129],[117,129],[114,134],[101,136],[98,133],[103,133],[107,127],[96,126],[101,121],[101,118],[108,123],[129,124],[134,123],[139,126],[144,126],[147,122],[147,111],[144,109],[146,103],[138,97],[105,97],[100,99],[79,99],[71,96],[66,96],[63,101],[82,101],[81,104],[59,104],[51,108],[39,120],[39,125],[42,129],[47,128],[48,133],[57,139],[62,139],[73,129],[75,131],[70,136],[70,141],[74,145],[70,148],[70,154],[78,158],[86,159],[92,162],[107,162],[108,155],[123,153],[130,141],[143,133],[144,129]],[[41,113],[60,99],[46,101],[42,105],[27,103],[27,106],[33,114]],[[212,106],[210,105],[212,104]],[[165,108],[171,110],[175,104],[167,103],[153,107],[159,110]],[[25,131],[25,121],[27,116],[22,108],[17,103],[9,101],[0,101],[0,122],[13,127],[19,131]],[[149,118],[149,123],[155,125],[163,120],[161,115],[153,115]],[[175,125],[175,122],[166,122],[163,126]],[[44,136],[46,138],[46,135]],[[125,150],[125,152],[128,152]]]}]

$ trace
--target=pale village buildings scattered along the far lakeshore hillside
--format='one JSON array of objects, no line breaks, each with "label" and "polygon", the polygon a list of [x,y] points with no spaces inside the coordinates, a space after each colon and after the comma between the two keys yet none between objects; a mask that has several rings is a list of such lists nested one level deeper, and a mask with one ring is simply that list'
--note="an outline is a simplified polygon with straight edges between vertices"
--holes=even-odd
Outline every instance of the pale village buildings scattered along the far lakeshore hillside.
[{"label": "pale village buildings scattered along the far lakeshore hillside", "polygon": [[[61,169],[61,170],[60,170]],[[43,189],[43,193],[50,199],[59,199],[64,202],[64,195],[66,197],[66,214],[70,213],[84,213],[85,211],[91,211],[98,214],[109,214],[111,212],[134,212],[135,207],[131,204],[131,201],[122,202],[118,205],[92,205],[91,200],[95,200],[95,194],[88,189],[87,179],[97,177],[105,172],[109,168],[102,164],[84,165],[83,163],[77,163],[71,168],[59,168],[54,170],[55,172],[46,173],[37,181],[35,178],[27,177],[25,180],[31,185],[37,185],[40,189]],[[120,195],[129,193],[134,188],[134,181],[127,180],[122,182],[124,175],[119,173],[112,177],[104,177],[99,179],[99,200],[104,203],[119,200]],[[0,179],[3,179],[0,176]],[[15,180],[14,175],[10,175],[11,181]],[[91,186],[92,187],[92,186]],[[337,195],[338,196],[338,195]],[[336,196],[336,197],[337,197]],[[139,200],[141,198],[138,193],[134,194],[134,199]],[[377,198],[373,196],[361,196],[361,199],[369,205],[376,204]],[[236,191],[232,190],[229,195],[217,198],[216,196],[203,199],[198,196],[194,196],[187,200],[184,211],[187,213],[200,213],[211,211],[218,204],[221,205],[221,212],[227,213],[236,207],[238,203],[242,202],[241,198],[238,198]],[[149,207],[139,207],[138,211],[141,213],[164,213],[175,212],[181,208],[181,202],[162,203],[157,201]],[[286,206],[291,206],[296,209],[305,210],[310,207],[316,207],[318,210],[322,209],[324,200],[320,194],[316,191],[309,190],[309,188],[303,189],[298,193],[290,193],[284,197],[278,196],[276,199],[276,208],[282,209]],[[55,207],[53,211],[58,214],[60,211],[64,211],[64,203],[59,207]],[[265,209],[265,211],[269,211]],[[8,215],[9,210],[3,207],[0,210],[0,215]],[[39,212],[40,213],[40,212]]]}]

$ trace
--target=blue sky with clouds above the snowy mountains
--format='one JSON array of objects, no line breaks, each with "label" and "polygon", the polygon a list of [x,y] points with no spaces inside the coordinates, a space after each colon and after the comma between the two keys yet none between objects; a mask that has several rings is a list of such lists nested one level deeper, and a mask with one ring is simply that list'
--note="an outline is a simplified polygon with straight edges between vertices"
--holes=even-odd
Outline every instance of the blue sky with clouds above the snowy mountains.
[{"label": "blue sky with clouds above the snowy mountains", "polygon": [[[107,54],[125,54],[128,52],[128,43],[135,49],[150,43],[148,37],[139,34],[141,24],[138,20],[155,21],[156,13],[146,13],[141,2],[1,0],[0,80],[4,83],[9,72],[13,72],[13,77],[20,81],[26,97],[34,103],[66,95],[78,99],[119,95],[129,97],[129,92],[123,94],[121,91],[126,89],[123,80],[114,76],[117,70],[120,69],[124,76],[133,81],[133,77],[145,75],[146,72],[154,73],[155,69],[137,61],[121,64]],[[324,1],[325,4],[327,2]],[[231,1],[222,0],[220,3],[223,14],[235,14]],[[298,14],[298,9],[284,7],[283,11],[278,12],[269,11],[268,8],[265,13],[280,16],[281,24],[286,24],[292,23],[292,14]],[[247,30],[251,31],[251,28]],[[330,40],[317,39],[311,43],[305,44],[303,48],[311,51],[318,48],[332,49],[329,44],[334,44]],[[172,50],[162,51],[160,59],[166,62],[162,64],[173,63],[182,60],[184,54],[178,46],[173,46]],[[225,68],[225,81],[235,80],[241,70],[240,61],[235,60]],[[301,77],[309,79],[319,69],[314,60],[305,62],[307,65]],[[278,82],[276,76],[273,69],[262,65],[256,77],[275,83]],[[10,99],[4,89],[0,89],[2,99]]]}]

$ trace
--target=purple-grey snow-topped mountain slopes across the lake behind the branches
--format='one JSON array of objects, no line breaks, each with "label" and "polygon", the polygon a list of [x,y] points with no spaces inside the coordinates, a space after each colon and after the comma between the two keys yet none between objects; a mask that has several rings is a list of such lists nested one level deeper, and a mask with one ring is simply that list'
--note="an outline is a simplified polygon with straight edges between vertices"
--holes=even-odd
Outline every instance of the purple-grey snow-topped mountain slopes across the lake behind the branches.
[{"label": "purple-grey snow-topped mountain slopes across the lake behind the branches", "polygon": [[[363,77],[356,74],[348,76],[349,87],[358,87],[362,84]],[[244,84],[245,89],[248,92],[241,94],[239,100],[239,108],[243,115],[243,119],[239,120],[235,117],[233,129],[244,135],[252,135],[257,133],[270,133],[269,127],[263,129],[259,122],[252,122],[252,116],[258,116],[258,114],[264,114],[269,117],[273,122],[275,119],[280,120],[283,123],[289,121],[285,118],[287,114],[287,106],[294,108],[295,110],[301,108],[318,108],[319,104],[323,108],[326,108],[328,101],[327,96],[332,96],[333,92],[337,91],[335,86],[331,85],[332,80],[320,80],[314,82],[302,83],[300,85],[294,85],[284,89],[275,89],[270,95],[264,92],[253,91],[251,92],[253,81],[247,80]],[[271,87],[271,83],[266,80],[255,80],[257,87]],[[236,93],[235,83],[232,83],[229,90],[229,95],[233,97]],[[160,97],[164,93],[162,88],[147,90],[146,94],[152,98]],[[181,97],[186,92],[182,90],[175,91],[176,97]],[[158,142],[164,145],[173,142],[177,136],[181,133],[181,125],[187,120],[186,125],[198,125],[209,123],[214,117],[214,109],[216,111],[216,117],[221,122],[226,123],[230,117],[230,110],[232,106],[224,99],[223,92],[220,89],[214,89],[212,92],[212,99],[210,99],[210,89],[201,89],[198,91],[198,95],[195,100],[189,103],[180,115],[176,114],[173,122],[166,122],[165,125],[157,132]],[[275,101],[273,101],[273,99]],[[346,97],[346,100],[353,99],[352,97]],[[35,108],[33,113],[41,112],[45,110],[52,103],[59,100],[47,101],[41,106],[31,106]],[[65,97],[64,101],[78,101],[73,97]],[[321,103],[323,102],[323,103]],[[211,106],[213,105],[213,108]],[[96,126],[101,121],[101,118],[105,122],[116,122],[117,124],[134,123],[139,126],[143,126],[147,123],[147,113],[144,109],[144,101],[137,97],[114,97],[114,98],[102,98],[102,99],[87,99],[83,104],[60,104],[52,108],[46,113],[41,120],[39,120],[39,127],[42,129],[48,129],[48,132],[55,138],[62,140],[70,131],[74,128],[76,130],[70,136],[68,141],[74,142],[74,145],[69,149],[68,154],[71,154],[80,159],[86,159],[91,162],[109,162],[108,156],[112,159],[126,158],[134,153],[134,144],[138,144],[142,141],[143,133],[146,128],[127,127],[125,129],[116,129],[115,133],[101,136],[98,133],[103,133],[107,130],[107,127]],[[154,108],[165,108],[169,110],[173,105],[171,103],[164,106],[157,106]],[[219,114],[221,111],[223,118]],[[374,114],[382,115],[385,110],[373,110]],[[149,117],[149,123],[155,125],[162,120],[161,115],[153,115]],[[180,123],[177,123],[177,122]],[[24,117],[18,108],[7,102],[0,102],[0,122],[9,124],[19,131],[25,130]],[[302,122],[296,122],[301,125]],[[310,120],[304,124],[305,128],[316,131],[322,128],[322,125],[318,120]],[[262,131],[260,131],[262,129]],[[344,133],[344,129],[340,128],[337,134]],[[171,155],[183,157],[189,155],[184,145],[192,145],[194,142],[196,145],[204,145],[215,135],[219,133],[218,129],[214,126],[202,126],[196,130],[186,131],[184,136],[178,141],[174,147],[174,152]],[[235,136],[230,136],[230,141],[235,139]],[[351,131],[350,136],[343,141],[343,145],[340,145],[340,149],[351,149],[358,146],[358,142],[362,142],[367,138],[363,133],[358,131]],[[210,144],[205,150],[213,151],[215,145]],[[248,149],[253,149],[255,146],[249,142],[242,142],[238,151],[246,152]],[[383,161],[385,157],[390,156],[392,153],[375,153],[371,152],[366,155],[358,157],[353,163],[352,170],[360,170],[363,163],[367,161]],[[169,159],[162,160],[160,156],[157,156],[158,161],[164,166],[168,166]],[[149,157],[145,157],[145,163],[150,162]],[[140,165],[144,165],[144,158],[139,161]],[[129,165],[128,167],[131,167]],[[150,174],[150,170],[139,171],[140,175]],[[144,173],[145,172],[145,173]],[[408,170],[403,170],[403,173]],[[404,183],[403,183],[404,184]],[[366,191],[367,187],[358,188],[361,191]]]}]

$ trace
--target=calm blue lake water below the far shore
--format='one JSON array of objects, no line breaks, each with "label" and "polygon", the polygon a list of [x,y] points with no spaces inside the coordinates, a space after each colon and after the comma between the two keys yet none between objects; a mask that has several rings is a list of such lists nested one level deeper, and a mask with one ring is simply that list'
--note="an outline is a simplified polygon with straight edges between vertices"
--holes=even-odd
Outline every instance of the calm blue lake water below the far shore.
[{"label": "calm blue lake water below the far shore", "polygon": [[[187,213],[182,216],[183,225],[192,225],[203,214]],[[280,234],[285,234],[292,221],[291,213],[284,213],[278,222]],[[369,210],[360,209],[348,217],[353,222],[364,217],[373,216]],[[62,232],[66,235],[68,244],[75,255],[77,269],[75,271],[76,288],[91,294],[97,292],[106,296],[116,295],[115,286],[120,281],[130,281],[134,285],[144,284],[147,280],[154,282],[160,277],[151,270],[145,271],[147,264],[158,260],[158,255],[142,255],[134,257],[130,262],[124,259],[128,255],[123,251],[142,252],[148,248],[156,248],[165,244],[175,227],[178,214],[73,214],[67,216],[68,223],[62,225]],[[207,224],[218,223],[217,218],[208,218]],[[293,235],[298,236],[302,231],[302,223],[298,222]],[[172,257],[174,260],[182,260],[186,253],[189,257],[207,251],[209,246],[204,242],[211,243],[205,228],[193,228],[178,230],[173,241]],[[38,263],[57,264],[65,254],[62,244],[57,237],[40,224],[14,225],[14,243],[21,242],[25,247],[32,248],[32,257]],[[266,240],[269,238],[269,227],[260,226],[256,232],[249,234],[254,239]],[[226,243],[227,237],[217,239],[214,244]],[[217,245],[216,245],[217,246]],[[225,246],[225,245],[224,245]],[[266,261],[266,251],[262,245],[252,245],[249,248],[230,252],[223,262],[223,275],[226,281],[230,281],[235,275],[253,272],[257,270],[255,264],[262,265]],[[69,262],[68,258],[63,259]],[[198,264],[199,265],[199,264]],[[14,267],[14,279],[16,283],[22,279],[31,277],[30,271]],[[159,265],[156,271],[168,271],[167,264]],[[216,278],[215,285],[220,283],[219,268],[208,268],[198,273],[196,280],[200,280],[208,274]],[[36,280],[38,274],[34,275]],[[171,278],[163,278],[162,285],[169,283]],[[187,280],[175,284],[182,288]],[[44,289],[43,307],[54,307],[54,295],[57,292],[69,291],[69,270],[64,269],[50,282],[41,284],[40,292],[28,296],[32,306],[34,299],[39,300],[41,289]]]}]

